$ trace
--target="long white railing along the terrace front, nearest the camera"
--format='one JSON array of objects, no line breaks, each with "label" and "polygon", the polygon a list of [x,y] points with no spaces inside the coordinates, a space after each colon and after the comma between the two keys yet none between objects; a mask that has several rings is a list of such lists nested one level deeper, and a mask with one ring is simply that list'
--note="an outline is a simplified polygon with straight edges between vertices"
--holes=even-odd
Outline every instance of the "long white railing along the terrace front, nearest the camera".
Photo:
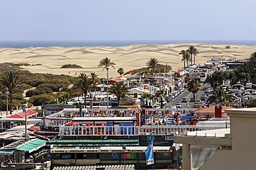
[{"label": "long white railing along the terrace front, nearest the camera", "polygon": [[171,136],[187,131],[223,129],[228,125],[163,125],[163,126],[60,126],[60,136]]}]

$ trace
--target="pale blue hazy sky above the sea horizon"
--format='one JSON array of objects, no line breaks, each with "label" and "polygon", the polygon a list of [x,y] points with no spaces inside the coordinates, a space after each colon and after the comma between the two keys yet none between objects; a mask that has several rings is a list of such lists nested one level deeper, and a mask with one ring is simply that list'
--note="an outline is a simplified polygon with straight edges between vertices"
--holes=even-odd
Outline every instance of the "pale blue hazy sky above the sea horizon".
[{"label": "pale blue hazy sky above the sea horizon", "polygon": [[256,0],[0,0],[0,40],[256,40]]}]

